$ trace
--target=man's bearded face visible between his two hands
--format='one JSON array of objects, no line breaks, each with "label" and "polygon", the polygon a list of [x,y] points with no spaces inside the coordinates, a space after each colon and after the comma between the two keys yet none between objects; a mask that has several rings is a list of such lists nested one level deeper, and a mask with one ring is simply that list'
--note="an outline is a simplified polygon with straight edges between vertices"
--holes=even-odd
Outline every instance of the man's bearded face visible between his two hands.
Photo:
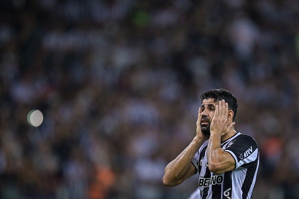
[{"label": "man's bearded face visible between his two hands", "polygon": [[214,102],[213,98],[202,100],[200,127],[205,135],[210,135],[210,125],[215,114],[215,107],[216,102]]}]

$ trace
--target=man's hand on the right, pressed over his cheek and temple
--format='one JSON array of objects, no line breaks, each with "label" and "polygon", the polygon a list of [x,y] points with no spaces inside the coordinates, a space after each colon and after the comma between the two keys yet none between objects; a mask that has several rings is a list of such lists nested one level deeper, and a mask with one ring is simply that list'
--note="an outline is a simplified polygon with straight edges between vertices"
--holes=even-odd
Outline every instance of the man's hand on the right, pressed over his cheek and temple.
[{"label": "man's hand on the right, pressed over his cheek and temple", "polygon": [[217,134],[219,137],[226,135],[235,122],[230,122],[229,119],[229,105],[225,100],[219,100],[215,107],[215,114],[211,122],[210,133]]}]

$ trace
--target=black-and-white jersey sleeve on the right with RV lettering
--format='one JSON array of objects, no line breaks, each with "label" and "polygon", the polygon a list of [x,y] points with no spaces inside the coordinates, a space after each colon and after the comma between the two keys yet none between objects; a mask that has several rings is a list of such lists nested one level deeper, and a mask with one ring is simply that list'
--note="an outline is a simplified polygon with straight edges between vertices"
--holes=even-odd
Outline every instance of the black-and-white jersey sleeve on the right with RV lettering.
[{"label": "black-and-white jersey sleeve on the right with RV lettering", "polygon": [[256,141],[250,136],[239,136],[225,149],[235,159],[235,170],[241,169],[242,166],[254,162],[258,158],[258,146]]}]

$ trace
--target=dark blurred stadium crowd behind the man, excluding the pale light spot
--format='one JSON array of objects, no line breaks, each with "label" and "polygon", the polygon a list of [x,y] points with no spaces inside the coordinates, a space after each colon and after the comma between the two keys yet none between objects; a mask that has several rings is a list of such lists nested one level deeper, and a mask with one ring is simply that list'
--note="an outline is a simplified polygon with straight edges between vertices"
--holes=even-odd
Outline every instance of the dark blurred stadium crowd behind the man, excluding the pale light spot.
[{"label": "dark blurred stadium crowd behind the man, excluding the pale light spot", "polygon": [[187,198],[197,175],[162,176],[213,88],[234,93],[236,130],[258,142],[253,198],[299,198],[299,1],[0,7],[0,198]]}]

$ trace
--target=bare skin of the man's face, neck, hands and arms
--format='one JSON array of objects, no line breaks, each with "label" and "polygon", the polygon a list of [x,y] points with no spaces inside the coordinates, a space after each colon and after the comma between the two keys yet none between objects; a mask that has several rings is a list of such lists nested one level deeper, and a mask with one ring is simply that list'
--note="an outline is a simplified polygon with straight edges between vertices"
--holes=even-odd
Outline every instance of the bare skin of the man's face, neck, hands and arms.
[{"label": "bare skin of the man's face, neck, hands and arms", "polygon": [[198,109],[196,136],[188,147],[165,167],[163,183],[166,186],[176,186],[191,177],[195,173],[191,161],[207,139],[209,139],[207,146],[209,170],[214,174],[233,170],[234,158],[221,149],[221,142],[236,134],[233,116],[234,112],[228,109],[225,100],[214,102],[213,98],[204,99]]}]

